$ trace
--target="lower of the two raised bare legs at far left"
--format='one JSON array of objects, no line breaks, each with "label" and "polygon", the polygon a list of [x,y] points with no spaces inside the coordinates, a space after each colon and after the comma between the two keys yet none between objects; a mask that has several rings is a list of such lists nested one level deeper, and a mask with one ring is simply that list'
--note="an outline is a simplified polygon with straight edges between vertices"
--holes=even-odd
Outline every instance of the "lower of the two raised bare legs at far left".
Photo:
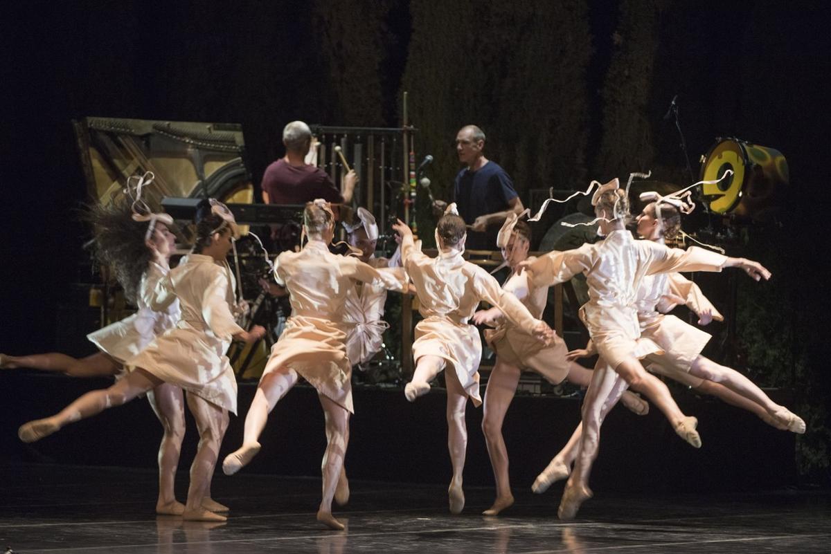
[{"label": "lower of the two raised bare legs at far left", "polygon": [[29,421],[21,425],[20,429],[17,430],[17,436],[23,442],[41,440],[65,425],[95,416],[107,408],[121,406],[143,392],[150,391],[153,387],[160,385],[161,382],[149,372],[145,372],[140,368],[135,369],[109,388],[90,391],[79,396],[55,416]]}]

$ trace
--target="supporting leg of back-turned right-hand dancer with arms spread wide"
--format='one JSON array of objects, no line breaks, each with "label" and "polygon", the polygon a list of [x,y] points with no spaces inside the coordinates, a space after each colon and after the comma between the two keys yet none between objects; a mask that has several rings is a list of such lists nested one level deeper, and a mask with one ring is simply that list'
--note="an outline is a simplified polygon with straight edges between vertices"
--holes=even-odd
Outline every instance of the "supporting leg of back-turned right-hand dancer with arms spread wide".
[{"label": "supporting leg of back-turned right-hand dancer with arms spread wide", "polygon": [[592,498],[592,491],[588,488],[588,477],[600,446],[600,427],[606,414],[626,388],[626,381],[617,372],[602,360],[597,362],[592,382],[583,400],[583,435],[578,446],[574,471],[568,478],[563,499],[560,501],[559,518],[574,518],[580,505]]}]

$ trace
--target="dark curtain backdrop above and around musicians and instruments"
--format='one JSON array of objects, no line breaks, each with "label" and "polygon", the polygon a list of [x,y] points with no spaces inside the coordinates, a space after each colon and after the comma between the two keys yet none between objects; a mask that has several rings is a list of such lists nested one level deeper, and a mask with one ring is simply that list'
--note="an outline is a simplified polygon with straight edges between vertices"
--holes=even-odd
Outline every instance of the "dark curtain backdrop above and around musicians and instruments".
[{"label": "dark curtain backdrop above and around musicians and instruments", "polygon": [[[71,284],[89,278],[79,275],[88,233],[73,213],[86,197],[73,118],[241,123],[258,183],[283,153],[288,121],[396,125],[408,90],[438,196],[458,169],[456,130],[477,123],[526,201],[529,188],[580,189],[649,168],[687,181],[676,129],[661,119],[678,95],[696,177],[717,136],[788,159],[778,221],[731,251],[774,272],[768,284],[740,281],[739,327],[754,378],[793,388],[806,416],[799,467],[827,479],[824,4],[7,3],[0,352],[47,351],[61,333],[90,330],[57,328],[58,306],[83,294]],[[723,298],[725,283],[706,292]]]}]

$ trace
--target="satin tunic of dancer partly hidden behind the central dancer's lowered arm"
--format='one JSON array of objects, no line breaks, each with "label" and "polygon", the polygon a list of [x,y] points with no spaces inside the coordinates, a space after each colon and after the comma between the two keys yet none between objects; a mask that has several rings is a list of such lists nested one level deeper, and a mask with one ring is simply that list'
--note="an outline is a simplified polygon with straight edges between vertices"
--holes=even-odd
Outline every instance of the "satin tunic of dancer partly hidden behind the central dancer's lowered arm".
[{"label": "satin tunic of dancer partly hidden behind the central dancer's lowered arm", "polygon": [[[534,256],[529,257],[529,261],[534,260]],[[502,288],[505,292],[514,294],[534,318],[543,318],[543,310],[548,303],[548,287],[531,284],[527,271],[509,275]],[[507,319],[501,318],[496,328],[485,330],[484,340],[494,349],[499,360],[520,369],[537,372],[554,385],[568,376],[568,347],[556,335],[554,343],[547,347]]]}]

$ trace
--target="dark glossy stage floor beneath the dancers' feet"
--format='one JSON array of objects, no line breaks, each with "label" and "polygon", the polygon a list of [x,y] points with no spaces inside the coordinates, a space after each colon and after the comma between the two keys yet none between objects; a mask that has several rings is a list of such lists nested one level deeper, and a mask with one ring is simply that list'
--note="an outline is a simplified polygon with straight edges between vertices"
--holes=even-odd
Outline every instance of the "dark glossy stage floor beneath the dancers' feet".
[{"label": "dark glossy stage floor beneath the dancers' feet", "polygon": [[[214,479],[228,522],[156,517],[156,476],[146,469],[0,464],[0,552],[829,552],[831,492],[606,496],[560,522],[562,485],[516,490],[504,517],[479,515],[492,490],[466,489],[460,516],[436,485],[352,482],[336,516],[347,531],[318,527],[319,479],[239,474]],[[179,499],[187,475],[180,472]]]}]

